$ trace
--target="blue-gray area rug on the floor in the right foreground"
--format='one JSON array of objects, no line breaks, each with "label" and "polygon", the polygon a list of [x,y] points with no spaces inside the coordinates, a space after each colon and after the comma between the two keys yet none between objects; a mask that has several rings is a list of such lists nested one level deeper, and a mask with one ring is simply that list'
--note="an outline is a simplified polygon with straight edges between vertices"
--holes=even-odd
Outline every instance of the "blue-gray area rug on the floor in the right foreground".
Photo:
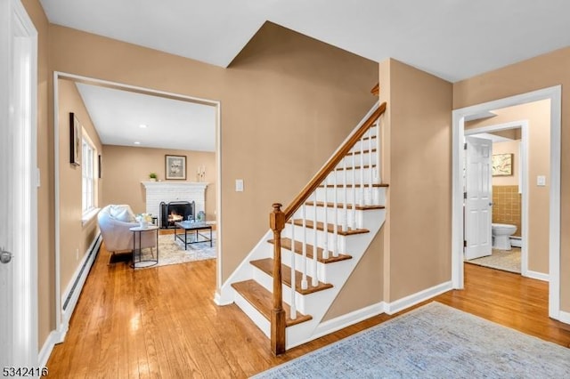
[{"label": "blue-gray area rug on the floor in the right foreground", "polygon": [[255,378],[569,378],[570,349],[431,302]]}]

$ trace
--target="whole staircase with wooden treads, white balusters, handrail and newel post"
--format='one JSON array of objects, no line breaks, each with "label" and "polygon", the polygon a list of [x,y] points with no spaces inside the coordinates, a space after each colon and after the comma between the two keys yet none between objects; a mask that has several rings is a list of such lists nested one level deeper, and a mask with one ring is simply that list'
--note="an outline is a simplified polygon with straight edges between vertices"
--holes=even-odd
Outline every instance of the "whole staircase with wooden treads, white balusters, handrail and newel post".
[{"label": "whole staircase with wooden treads, white balusters, handrail and newel post", "polygon": [[322,318],[385,221],[376,103],[222,287],[271,338],[274,354],[324,335]]}]

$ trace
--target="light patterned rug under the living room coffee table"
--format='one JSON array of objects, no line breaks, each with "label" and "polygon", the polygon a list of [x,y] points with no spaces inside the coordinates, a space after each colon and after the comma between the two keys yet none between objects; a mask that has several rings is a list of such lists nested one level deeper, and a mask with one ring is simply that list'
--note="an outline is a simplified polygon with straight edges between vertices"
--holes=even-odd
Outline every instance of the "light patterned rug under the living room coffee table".
[{"label": "light patterned rug under the living room coffee table", "polygon": [[[209,231],[202,232],[209,238]],[[204,238],[199,237],[200,240]],[[159,236],[159,263],[151,267],[166,266],[168,264],[177,264],[193,261],[203,261],[205,259],[216,258],[216,231],[212,231],[212,246],[209,242],[200,242],[199,244],[188,245],[184,250],[182,241],[176,239],[174,234],[164,234]],[[144,251],[144,254],[150,254]],[[143,255],[143,259],[144,259]],[[146,267],[137,267],[137,269],[145,269]]]}]

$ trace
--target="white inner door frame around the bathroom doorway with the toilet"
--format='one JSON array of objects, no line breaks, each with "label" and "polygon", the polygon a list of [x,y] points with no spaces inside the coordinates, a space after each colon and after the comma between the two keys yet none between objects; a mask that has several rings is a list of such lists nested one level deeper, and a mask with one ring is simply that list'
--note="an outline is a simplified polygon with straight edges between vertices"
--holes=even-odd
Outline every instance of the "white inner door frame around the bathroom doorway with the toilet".
[{"label": "white inner door frame around the bathroom doorway with the toilet", "polygon": [[522,206],[521,206],[521,275],[523,277],[528,277],[528,121],[512,121],[505,124],[488,125],[482,126],[474,129],[465,130],[465,135],[474,135],[478,133],[493,133],[499,132],[501,130],[509,129],[521,129],[521,149],[520,149],[520,166],[521,166],[521,177],[519,182],[521,183],[522,192]]}]

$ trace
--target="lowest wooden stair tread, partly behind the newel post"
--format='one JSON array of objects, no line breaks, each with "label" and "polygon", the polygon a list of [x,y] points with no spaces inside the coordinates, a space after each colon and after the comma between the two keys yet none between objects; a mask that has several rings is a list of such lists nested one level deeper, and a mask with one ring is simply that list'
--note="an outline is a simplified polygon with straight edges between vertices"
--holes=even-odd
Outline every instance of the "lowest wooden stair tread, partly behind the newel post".
[{"label": "lowest wooden stair tread, partly behind the newel post", "polygon": [[[243,296],[256,310],[261,313],[265,319],[271,321],[271,312],[273,310],[273,294],[267,291],[253,279],[245,280],[238,283],[232,283],[233,289]],[[285,319],[287,327],[300,324],[302,322],[313,319],[311,315],[304,315],[297,311],[297,319],[291,319],[291,309],[288,304],[283,302],[283,310],[285,310]]]}]

